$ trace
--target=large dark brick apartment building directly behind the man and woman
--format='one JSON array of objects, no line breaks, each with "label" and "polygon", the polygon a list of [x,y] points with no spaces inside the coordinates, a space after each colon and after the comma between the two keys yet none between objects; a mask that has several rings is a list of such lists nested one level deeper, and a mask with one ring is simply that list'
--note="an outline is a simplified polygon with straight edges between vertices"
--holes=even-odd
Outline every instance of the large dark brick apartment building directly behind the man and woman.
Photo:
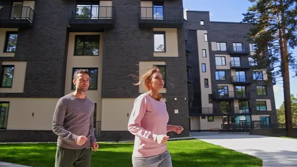
[{"label": "large dark brick apartment building directly behind the man and woman", "polygon": [[[130,74],[156,65],[165,78],[169,124],[189,136],[182,0],[0,1],[0,140],[54,141],[58,99],[90,72],[98,140],[127,140],[134,99]],[[169,135],[177,136],[174,133]]]}]

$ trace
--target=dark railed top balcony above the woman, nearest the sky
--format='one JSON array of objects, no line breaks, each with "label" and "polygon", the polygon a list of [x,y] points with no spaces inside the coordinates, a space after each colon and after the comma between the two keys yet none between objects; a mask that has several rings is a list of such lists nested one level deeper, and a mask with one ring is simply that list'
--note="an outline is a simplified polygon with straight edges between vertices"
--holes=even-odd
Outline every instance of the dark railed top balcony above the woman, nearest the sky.
[{"label": "dark railed top balcony above the woman, nearest the sky", "polygon": [[182,28],[182,8],[140,7],[140,28]]}]

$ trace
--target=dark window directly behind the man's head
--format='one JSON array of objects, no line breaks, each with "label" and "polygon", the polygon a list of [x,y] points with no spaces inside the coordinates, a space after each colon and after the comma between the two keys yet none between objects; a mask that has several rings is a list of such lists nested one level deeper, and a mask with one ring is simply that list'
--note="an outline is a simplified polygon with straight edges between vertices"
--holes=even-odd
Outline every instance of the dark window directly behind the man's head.
[{"label": "dark window directly behind the man's head", "polygon": [[[73,68],[73,70],[72,70],[72,80],[73,80],[73,75],[79,69],[87,69],[89,71],[89,74],[90,74],[89,90],[97,90],[98,68]],[[72,80],[71,80],[71,82],[72,82]],[[76,89],[76,86],[73,84],[73,82],[72,82],[71,88],[72,88],[72,90]]]}]

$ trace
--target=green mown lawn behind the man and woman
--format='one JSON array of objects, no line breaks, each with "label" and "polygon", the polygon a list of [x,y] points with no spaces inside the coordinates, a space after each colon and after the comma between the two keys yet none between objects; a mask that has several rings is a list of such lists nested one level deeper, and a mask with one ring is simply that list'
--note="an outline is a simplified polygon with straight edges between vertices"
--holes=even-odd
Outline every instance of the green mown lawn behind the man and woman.
[{"label": "green mown lawn behind the man and woman", "polygon": [[[201,140],[168,142],[173,166],[262,166],[256,157],[209,144]],[[133,143],[100,142],[91,166],[132,166]],[[30,166],[54,166],[56,144],[0,144],[0,161]]]}]

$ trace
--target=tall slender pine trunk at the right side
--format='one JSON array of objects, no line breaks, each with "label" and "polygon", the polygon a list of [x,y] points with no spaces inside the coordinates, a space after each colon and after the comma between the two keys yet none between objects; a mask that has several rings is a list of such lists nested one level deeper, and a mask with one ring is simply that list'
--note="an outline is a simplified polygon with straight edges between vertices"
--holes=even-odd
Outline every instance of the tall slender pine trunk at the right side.
[{"label": "tall slender pine trunk at the right side", "polygon": [[283,79],[283,96],[284,96],[284,113],[285,113],[285,127],[286,136],[293,137],[292,129],[292,113],[291,113],[291,95],[290,95],[290,78],[289,78],[289,64],[288,64],[288,51],[287,51],[287,38],[286,38],[286,26],[285,16],[283,13],[283,1],[280,0],[280,14],[281,14],[281,28],[283,38],[283,48],[281,52],[281,68]]}]

